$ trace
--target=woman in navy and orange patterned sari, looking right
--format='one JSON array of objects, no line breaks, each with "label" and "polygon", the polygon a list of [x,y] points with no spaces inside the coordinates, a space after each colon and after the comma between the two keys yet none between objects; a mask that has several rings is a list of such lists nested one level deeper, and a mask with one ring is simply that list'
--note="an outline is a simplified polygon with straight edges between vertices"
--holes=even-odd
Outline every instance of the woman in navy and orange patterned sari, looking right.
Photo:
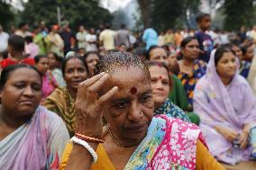
[{"label": "woman in navy and orange patterned sari, looking right", "polygon": [[178,78],[185,88],[188,108],[193,110],[193,95],[197,81],[206,74],[206,62],[197,59],[199,56],[199,43],[195,37],[187,37],[181,41],[182,59],[178,61],[179,73]]}]

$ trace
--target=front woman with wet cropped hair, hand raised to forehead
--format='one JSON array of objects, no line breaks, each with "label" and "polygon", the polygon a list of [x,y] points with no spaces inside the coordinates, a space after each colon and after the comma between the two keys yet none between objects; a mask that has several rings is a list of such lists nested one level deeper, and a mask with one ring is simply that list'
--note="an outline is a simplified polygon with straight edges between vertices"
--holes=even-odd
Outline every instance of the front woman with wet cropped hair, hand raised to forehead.
[{"label": "front woman with wet cropped hair, hand raised to forehead", "polygon": [[196,125],[153,117],[149,70],[130,53],[99,61],[96,76],[78,87],[76,109],[76,135],[60,169],[224,169]]}]

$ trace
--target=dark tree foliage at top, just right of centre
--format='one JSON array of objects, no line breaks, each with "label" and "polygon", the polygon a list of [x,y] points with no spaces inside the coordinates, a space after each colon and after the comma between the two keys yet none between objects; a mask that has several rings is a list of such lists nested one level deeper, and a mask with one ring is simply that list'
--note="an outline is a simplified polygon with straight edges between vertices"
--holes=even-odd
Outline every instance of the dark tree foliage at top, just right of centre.
[{"label": "dark tree foliage at top, just right of centre", "polygon": [[174,28],[177,20],[190,27],[190,18],[198,13],[200,0],[138,0],[144,26],[164,31]]}]

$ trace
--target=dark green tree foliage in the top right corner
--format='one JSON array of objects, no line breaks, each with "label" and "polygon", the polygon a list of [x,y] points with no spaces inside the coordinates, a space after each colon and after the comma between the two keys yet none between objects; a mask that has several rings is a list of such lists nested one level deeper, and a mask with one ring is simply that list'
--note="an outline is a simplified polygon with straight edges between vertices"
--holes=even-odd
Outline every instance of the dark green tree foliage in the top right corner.
[{"label": "dark green tree foliage in the top right corner", "polygon": [[254,18],[253,0],[225,0],[224,13],[224,28],[228,31],[239,30],[243,25],[251,26]]}]

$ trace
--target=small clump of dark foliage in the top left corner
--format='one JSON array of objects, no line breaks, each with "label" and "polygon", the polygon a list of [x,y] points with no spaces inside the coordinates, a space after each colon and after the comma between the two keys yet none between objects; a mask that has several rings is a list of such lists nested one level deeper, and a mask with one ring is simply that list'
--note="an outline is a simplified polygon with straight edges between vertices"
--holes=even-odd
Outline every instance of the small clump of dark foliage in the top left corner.
[{"label": "small clump of dark foliage in the top left corner", "polygon": [[3,27],[9,27],[14,21],[14,13],[11,10],[11,5],[5,1],[0,1],[0,23]]}]

